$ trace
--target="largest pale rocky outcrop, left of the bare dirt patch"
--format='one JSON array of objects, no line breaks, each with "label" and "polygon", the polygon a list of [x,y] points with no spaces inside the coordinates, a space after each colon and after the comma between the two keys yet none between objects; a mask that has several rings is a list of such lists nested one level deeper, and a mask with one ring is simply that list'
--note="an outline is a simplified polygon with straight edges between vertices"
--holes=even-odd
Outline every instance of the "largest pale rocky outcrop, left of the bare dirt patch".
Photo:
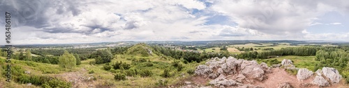
[{"label": "largest pale rocky outcrop, left of the bare dirt patch", "polygon": [[[211,78],[209,84],[215,87],[256,87],[243,85],[242,82],[253,82],[253,80],[264,80],[265,73],[271,73],[270,67],[264,62],[258,64],[255,60],[237,60],[236,58],[211,58],[206,64],[199,65],[195,74]],[[233,76],[225,79],[225,75]],[[218,77],[217,77],[218,76]]]}]

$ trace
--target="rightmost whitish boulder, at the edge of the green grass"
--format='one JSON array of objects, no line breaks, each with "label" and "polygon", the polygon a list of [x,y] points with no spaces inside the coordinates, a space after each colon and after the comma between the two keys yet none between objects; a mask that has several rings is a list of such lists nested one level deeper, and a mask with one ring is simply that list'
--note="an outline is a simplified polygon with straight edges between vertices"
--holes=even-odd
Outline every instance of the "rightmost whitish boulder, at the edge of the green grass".
[{"label": "rightmost whitish boulder, at the edge of the green grass", "polygon": [[342,78],[341,74],[339,74],[339,71],[334,68],[323,67],[322,74],[326,78],[329,78],[329,81],[331,81],[332,83],[338,83]]}]

